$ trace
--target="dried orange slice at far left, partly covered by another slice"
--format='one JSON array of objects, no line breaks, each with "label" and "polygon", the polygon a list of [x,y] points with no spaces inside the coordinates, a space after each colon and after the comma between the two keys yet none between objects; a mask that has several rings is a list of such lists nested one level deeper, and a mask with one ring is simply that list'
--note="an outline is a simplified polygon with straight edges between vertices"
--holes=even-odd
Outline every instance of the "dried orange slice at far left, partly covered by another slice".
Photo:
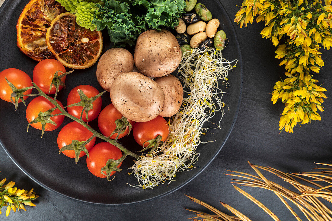
[{"label": "dried orange slice at far left, partly covered by another slice", "polygon": [[59,14],[66,12],[55,0],[31,0],[23,9],[17,25],[17,46],[36,61],[54,58],[45,43],[47,28]]}]

